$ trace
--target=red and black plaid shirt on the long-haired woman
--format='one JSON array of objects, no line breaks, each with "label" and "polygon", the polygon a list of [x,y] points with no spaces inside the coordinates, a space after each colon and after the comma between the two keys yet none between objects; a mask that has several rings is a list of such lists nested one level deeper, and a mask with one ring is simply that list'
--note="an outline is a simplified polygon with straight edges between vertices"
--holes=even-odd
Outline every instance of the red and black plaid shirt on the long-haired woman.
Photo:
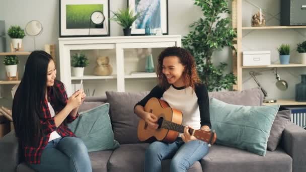
[{"label": "red and black plaid shirt on the long-haired woman", "polygon": [[[67,103],[68,98],[67,98],[67,93],[65,91],[64,85],[61,81],[54,81],[54,88],[58,90],[59,93],[59,97],[60,99],[62,99],[65,103]],[[55,99],[55,97],[52,94],[52,88],[48,87],[48,100],[50,102],[50,104],[52,105],[55,114],[57,114],[58,112],[60,112],[62,110],[61,107],[56,106],[57,105],[57,100]],[[40,138],[40,142],[38,147],[32,147],[32,146],[24,146],[23,147],[23,152],[24,152],[24,156],[25,156],[25,160],[31,164],[39,164],[40,163],[40,157],[42,154],[42,151],[44,150],[44,148],[46,147],[46,145],[48,144],[49,138],[50,138],[50,134],[53,131],[57,131],[57,133],[61,136],[61,137],[75,137],[75,135],[72,133],[72,131],[65,125],[65,123],[61,123],[60,126],[58,126],[56,128],[55,123],[54,123],[54,119],[51,117],[50,111],[49,111],[49,107],[48,107],[48,101],[45,100],[42,104],[42,113],[43,113],[43,119],[40,120],[40,123],[42,125],[42,131],[44,133],[44,136],[42,136]],[[75,120],[77,117],[79,116],[79,114],[77,114],[77,116],[72,117],[70,115],[67,116],[67,122],[70,123],[73,120]]]}]

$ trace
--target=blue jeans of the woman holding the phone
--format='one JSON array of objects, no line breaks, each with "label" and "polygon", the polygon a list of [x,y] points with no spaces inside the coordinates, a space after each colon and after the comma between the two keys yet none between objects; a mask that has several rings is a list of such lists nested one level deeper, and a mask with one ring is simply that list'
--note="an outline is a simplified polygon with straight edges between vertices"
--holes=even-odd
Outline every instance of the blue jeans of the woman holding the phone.
[{"label": "blue jeans of the woman holding the phone", "polygon": [[28,165],[44,172],[92,172],[87,147],[77,137],[60,137],[50,141],[42,151],[40,164]]}]

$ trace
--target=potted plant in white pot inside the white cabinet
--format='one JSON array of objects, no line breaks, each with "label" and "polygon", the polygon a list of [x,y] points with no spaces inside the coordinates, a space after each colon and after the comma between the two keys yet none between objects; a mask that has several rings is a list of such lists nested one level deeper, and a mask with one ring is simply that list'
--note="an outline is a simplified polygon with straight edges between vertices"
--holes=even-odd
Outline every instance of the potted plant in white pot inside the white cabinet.
[{"label": "potted plant in white pot inside the white cabinet", "polygon": [[72,58],[71,66],[74,76],[78,77],[84,76],[84,68],[89,64],[88,58],[83,53],[80,54],[75,53],[72,55],[71,58]]}]

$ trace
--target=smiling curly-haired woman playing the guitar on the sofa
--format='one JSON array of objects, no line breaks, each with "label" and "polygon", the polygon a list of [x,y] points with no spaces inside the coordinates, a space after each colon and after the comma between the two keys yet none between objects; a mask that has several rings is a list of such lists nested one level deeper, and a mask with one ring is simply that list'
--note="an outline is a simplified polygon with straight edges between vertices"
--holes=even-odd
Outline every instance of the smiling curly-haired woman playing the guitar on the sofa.
[{"label": "smiling curly-haired woman playing the guitar on the sofa", "polygon": [[182,125],[188,127],[173,143],[151,143],[145,151],[144,171],[162,171],[162,160],[169,158],[172,158],[170,171],[187,171],[208,153],[208,144],[188,132],[189,128],[210,129],[208,92],[197,75],[194,57],[187,50],[169,47],[160,54],[158,63],[160,83],[135,105],[134,112],[148,127],[157,129],[157,117],[143,109],[150,98],[156,97],[180,110]]}]

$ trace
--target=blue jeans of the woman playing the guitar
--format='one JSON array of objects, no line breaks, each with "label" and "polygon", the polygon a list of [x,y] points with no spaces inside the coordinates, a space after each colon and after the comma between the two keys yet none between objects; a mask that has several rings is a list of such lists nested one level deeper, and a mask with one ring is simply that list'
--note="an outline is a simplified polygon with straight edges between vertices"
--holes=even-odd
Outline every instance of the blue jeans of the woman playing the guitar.
[{"label": "blue jeans of the woman playing the guitar", "polygon": [[178,138],[171,144],[155,141],[145,150],[144,171],[160,172],[162,160],[170,158],[170,172],[187,171],[189,166],[208,153],[208,148],[208,144],[201,140],[184,143]]}]

